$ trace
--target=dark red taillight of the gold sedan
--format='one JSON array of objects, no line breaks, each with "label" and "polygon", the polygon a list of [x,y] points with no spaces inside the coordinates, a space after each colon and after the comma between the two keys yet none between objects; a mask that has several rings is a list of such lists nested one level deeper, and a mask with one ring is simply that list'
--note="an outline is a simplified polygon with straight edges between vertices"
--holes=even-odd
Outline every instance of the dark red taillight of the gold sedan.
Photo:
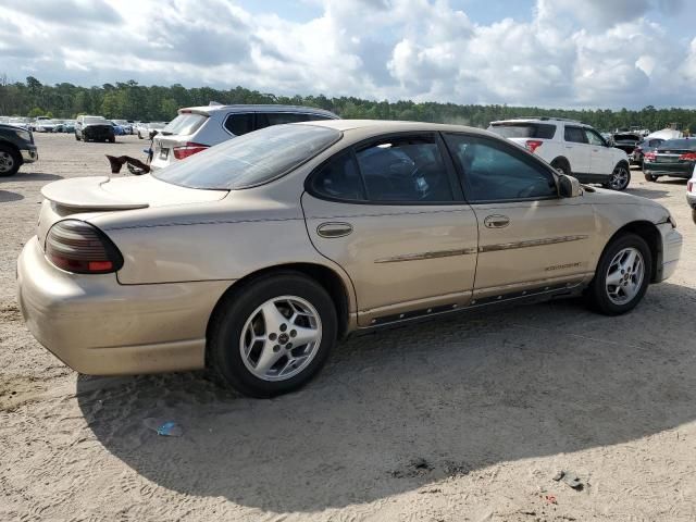
[{"label": "dark red taillight of the gold sedan", "polygon": [[107,274],[123,266],[123,256],[111,239],[78,220],[51,226],[46,236],[46,257],[59,269],[77,274]]}]

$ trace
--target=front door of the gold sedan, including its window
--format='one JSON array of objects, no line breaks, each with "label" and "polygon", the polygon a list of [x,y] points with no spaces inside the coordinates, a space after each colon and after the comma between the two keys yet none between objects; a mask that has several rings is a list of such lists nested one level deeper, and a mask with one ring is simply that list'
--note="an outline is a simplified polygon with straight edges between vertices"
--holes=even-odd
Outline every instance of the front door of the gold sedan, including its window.
[{"label": "front door of the gold sedan, including its window", "polygon": [[474,300],[573,286],[592,274],[591,204],[559,198],[537,159],[484,137],[445,136],[478,222]]}]

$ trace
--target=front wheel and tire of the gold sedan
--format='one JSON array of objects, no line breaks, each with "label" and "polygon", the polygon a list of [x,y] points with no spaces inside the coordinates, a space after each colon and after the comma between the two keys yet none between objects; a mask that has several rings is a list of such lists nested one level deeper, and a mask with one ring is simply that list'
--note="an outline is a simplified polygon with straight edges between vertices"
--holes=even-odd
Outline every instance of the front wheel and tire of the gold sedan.
[{"label": "front wheel and tire of the gold sedan", "polygon": [[633,310],[647,291],[652,275],[652,254],[641,236],[623,234],[613,239],[599,259],[586,298],[605,315]]}]

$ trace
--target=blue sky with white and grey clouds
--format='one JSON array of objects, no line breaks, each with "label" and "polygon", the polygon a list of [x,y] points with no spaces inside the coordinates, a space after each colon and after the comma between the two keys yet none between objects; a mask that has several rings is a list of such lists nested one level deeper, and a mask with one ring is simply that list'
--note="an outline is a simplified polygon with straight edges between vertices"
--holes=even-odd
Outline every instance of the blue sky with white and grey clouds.
[{"label": "blue sky with white and grey clouds", "polygon": [[696,107],[695,0],[0,0],[0,27],[10,80]]}]

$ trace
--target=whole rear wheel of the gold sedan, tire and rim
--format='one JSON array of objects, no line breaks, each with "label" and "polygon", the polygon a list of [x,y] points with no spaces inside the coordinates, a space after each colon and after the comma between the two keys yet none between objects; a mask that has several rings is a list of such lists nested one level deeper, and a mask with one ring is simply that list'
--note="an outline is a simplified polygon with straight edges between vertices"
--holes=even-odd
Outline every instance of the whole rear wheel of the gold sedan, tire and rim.
[{"label": "whole rear wheel of the gold sedan, tire and rim", "polygon": [[241,394],[269,398],[300,388],[324,365],[336,308],[316,282],[283,272],[225,296],[209,332],[209,366]]}]

